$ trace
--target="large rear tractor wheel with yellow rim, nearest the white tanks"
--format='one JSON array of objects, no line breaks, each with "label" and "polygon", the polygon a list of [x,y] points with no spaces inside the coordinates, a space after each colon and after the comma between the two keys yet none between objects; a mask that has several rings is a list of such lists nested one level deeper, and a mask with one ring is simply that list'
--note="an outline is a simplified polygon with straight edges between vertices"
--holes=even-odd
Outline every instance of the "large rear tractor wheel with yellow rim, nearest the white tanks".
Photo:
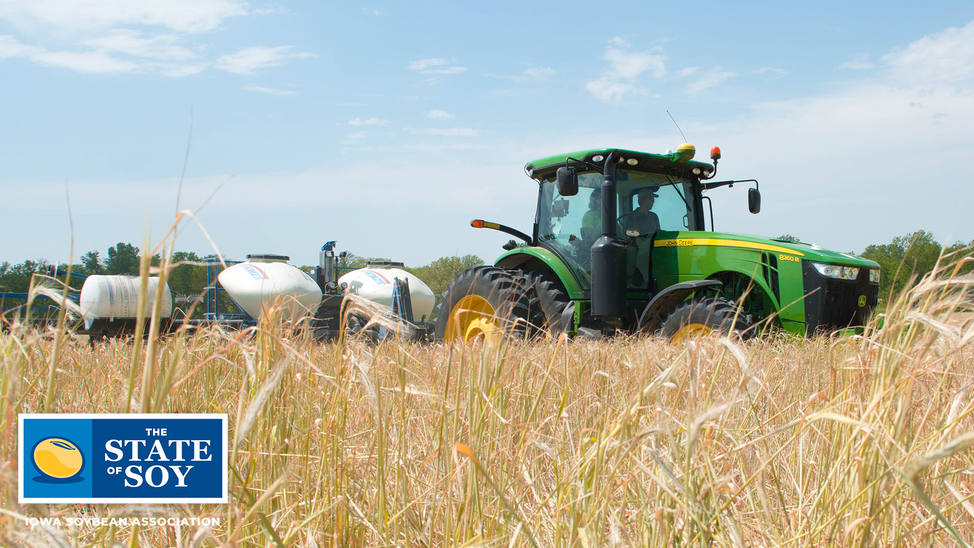
[{"label": "large rear tractor wheel with yellow rim, nearest the white tanks", "polygon": [[469,341],[527,333],[531,297],[515,274],[497,266],[476,266],[458,274],[436,307],[435,338]]}]

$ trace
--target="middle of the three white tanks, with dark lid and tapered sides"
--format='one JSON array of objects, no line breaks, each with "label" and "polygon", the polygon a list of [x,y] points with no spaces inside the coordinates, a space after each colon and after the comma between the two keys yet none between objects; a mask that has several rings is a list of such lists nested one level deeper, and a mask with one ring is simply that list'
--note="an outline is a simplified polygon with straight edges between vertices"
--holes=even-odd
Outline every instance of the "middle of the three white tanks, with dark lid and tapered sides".
[{"label": "middle of the three white tanks, with dark lid and tapered sides", "polygon": [[303,270],[287,264],[288,258],[247,255],[246,262],[227,268],[216,279],[251,318],[260,319],[275,302],[285,319],[313,315],[321,289]]}]

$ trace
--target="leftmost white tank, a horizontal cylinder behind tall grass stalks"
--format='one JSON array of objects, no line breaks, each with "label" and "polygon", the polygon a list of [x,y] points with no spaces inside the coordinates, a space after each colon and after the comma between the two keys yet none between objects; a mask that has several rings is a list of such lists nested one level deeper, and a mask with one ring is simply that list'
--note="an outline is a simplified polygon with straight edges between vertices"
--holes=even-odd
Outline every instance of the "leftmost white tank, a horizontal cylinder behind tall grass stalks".
[{"label": "leftmost white tank, a horizontal cylinder behind tall grass stalks", "polygon": [[[81,287],[81,297],[78,304],[85,316],[85,329],[92,328],[92,322],[98,318],[109,320],[123,320],[135,318],[138,313],[138,290],[140,281],[138,276],[89,276],[85,285]],[[152,303],[159,288],[159,278],[149,278],[149,300],[146,315],[152,313]],[[172,315],[172,294],[169,284],[163,285],[163,309],[160,316],[169,318]]]}]

